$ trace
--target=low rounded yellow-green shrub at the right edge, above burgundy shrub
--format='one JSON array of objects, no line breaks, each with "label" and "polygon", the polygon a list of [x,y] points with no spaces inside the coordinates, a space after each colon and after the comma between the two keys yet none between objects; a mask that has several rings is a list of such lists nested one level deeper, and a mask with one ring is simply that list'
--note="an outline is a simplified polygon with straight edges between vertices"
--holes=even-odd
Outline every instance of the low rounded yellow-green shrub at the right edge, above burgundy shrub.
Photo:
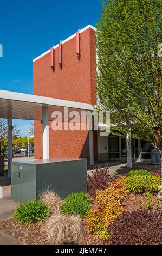
[{"label": "low rounded yellow-green shrub at the right edge, above burgundy shrub", "polygon": [[127,188],[130,192],[141,194],[146,191],[155,193],[161,184],[161,179],[153,175],[133,175],[127,179]]}]

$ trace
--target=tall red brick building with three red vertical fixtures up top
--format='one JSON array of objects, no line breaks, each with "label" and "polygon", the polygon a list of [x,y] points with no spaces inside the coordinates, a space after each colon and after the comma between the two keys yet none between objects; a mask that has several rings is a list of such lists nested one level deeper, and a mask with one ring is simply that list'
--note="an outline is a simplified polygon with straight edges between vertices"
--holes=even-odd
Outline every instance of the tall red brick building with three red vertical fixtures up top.
[{"label": "tall red brick building with three red vertical fixtures up top", "polygon": [[[62,41],[62,66],[59,45],[33,60],[34,94],[56,99],[95,104],[95,31],[93,26],[80,30],[80,58],[77,58],[76,34]],[[35,158],[42,158],[42,124],[35,121]],[[49,123],[50,157],[86,157],[89,159],[88,131],[53,131]],[[97,131],[94,132],[94,160],[98,159]]]}]

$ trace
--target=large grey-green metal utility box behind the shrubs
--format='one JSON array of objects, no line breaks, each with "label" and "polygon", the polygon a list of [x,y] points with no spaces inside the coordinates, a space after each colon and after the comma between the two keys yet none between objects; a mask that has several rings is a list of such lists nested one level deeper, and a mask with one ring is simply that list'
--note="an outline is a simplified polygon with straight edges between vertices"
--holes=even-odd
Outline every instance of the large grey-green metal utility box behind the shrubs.
[{"label": "large grey-green metal utility box behind the shrubs", "polygon": [[46,159],[12,162],[11,196],[20,202],[38,199],[50,188],[64,198],[86,192],[87,159]]}]

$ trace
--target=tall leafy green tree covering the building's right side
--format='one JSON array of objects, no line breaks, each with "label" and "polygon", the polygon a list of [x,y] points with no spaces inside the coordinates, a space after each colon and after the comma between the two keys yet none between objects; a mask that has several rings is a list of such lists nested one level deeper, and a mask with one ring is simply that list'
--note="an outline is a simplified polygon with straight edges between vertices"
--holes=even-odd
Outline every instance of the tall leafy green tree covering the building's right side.
[{"label": "tall leafy green tree covering the building's right side", "polygon": [[96,32],[99,109],[111,111],[113,131],[147,139],[160,153],[161,10],[161,0],[107,0]]}]

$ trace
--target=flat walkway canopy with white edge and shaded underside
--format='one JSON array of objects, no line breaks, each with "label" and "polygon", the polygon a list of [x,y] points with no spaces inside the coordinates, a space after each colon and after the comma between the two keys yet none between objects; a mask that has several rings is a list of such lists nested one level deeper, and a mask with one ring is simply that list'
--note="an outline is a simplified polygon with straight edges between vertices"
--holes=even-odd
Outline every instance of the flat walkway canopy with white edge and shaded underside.
[{"label": "flat walkway canopy with white edge and shaded underside", "polygon": [[49,107],[49,120],[52,120],[51,113],[63,112],[63,107],[69,107],[69,110],[94,111],[94,107],[87,103],[0,90],[0,118],[41,120],[43,106]]}]

